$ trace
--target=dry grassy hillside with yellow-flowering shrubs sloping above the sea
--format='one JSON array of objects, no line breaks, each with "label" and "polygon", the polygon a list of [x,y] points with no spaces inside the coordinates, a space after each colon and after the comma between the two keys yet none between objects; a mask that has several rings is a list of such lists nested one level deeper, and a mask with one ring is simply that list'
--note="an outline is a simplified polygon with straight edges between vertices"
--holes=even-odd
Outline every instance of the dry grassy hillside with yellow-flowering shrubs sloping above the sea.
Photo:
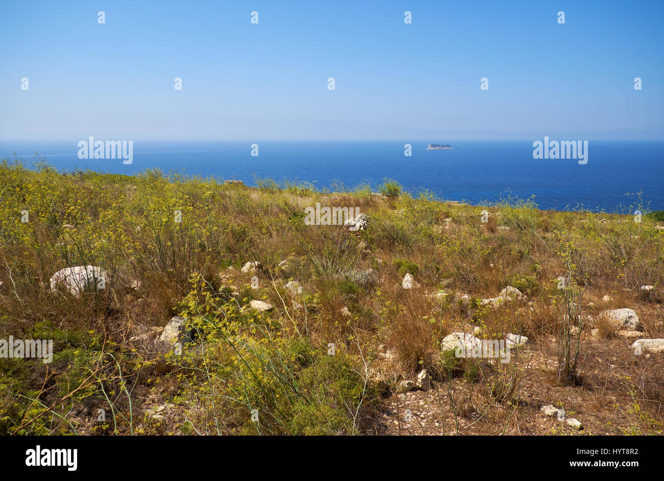
[{"label": "dry grassy hillside with yellow-flowering shrubs sloping above the sea", "polygon": [[[0,338],[54,340],[50,364],[0,358],[0,434],[663,431],[664,353],[630,347],[664,338],[659,218],[438,202],[394,182],[325,193],[10,161],[0,180]],[[359,208],[366,228],[307,225],[317,202]],[[84,265],[108,273],[103,289],[51,289]],[[482,301],[508,286],[523,298]],[[639,332],[602,314],[622,308]],[[189,336],[164,349],[173,316]],[[509,362],[458,358],[452,332],[529,340]],[[431,388],[410,390],[422,370]]]}]

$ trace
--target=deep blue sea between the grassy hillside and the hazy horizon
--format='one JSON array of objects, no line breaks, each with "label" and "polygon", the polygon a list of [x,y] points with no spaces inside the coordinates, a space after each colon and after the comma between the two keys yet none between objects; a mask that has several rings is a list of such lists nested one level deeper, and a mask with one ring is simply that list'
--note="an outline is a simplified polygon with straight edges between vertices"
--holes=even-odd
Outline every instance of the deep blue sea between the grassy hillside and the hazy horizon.
[{"label": "deep blue sea between the grassy hillside and the hazy horizon", "polygon": [[[238,179],[249,185],[265,178],[311,182],[319,190],[331,191],[360,184],[376,190],[389,178],[412,194],[427,190],[438,198],[469,204],[535,196],[540,209],[627,213],[630,206],[643,206],[664,210],[664,141],[591,140],[588,163],[579,165],[575,159],[533,159],[533,140],[432,139],[459,149],[446,151],[428,151],[427,141],[408,140],[133,141],[130,165],[122,159],[78,159],[78,140],[1,141],[0,157],[16,153],[30,165],[39,153],[62,172],[92,169],[135,174],[160,169]],[[251,155],[252,143],[258,144],[258,157]],[[404,156],[406,143],[412,145],[412,157]]]}]

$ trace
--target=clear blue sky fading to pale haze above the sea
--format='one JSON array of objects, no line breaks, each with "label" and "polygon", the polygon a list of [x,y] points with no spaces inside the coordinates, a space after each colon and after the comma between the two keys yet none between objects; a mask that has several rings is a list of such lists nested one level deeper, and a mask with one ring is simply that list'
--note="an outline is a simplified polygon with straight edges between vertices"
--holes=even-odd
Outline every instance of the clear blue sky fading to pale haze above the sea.
[{"label": "clear blue sky fading to pale haze above the sea", "polygon": [[663,24],[664,1],[2,1],[0,139],[664,139]]}]

